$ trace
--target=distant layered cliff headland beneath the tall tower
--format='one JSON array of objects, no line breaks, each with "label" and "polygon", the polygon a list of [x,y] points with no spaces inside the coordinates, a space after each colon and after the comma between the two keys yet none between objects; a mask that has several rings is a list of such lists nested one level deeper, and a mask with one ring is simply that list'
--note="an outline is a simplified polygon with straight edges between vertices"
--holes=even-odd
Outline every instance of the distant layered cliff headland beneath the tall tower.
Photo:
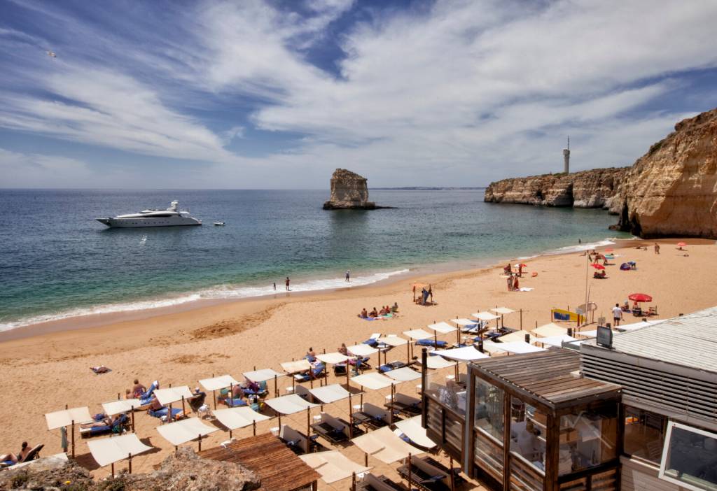
[{"label": "distant layered cliff headland beneath the tall tower", "polygon": [[488,203],[609,208],[626,174],[627,167],[611,167],[503,179],[490,183],[483,199]]}]

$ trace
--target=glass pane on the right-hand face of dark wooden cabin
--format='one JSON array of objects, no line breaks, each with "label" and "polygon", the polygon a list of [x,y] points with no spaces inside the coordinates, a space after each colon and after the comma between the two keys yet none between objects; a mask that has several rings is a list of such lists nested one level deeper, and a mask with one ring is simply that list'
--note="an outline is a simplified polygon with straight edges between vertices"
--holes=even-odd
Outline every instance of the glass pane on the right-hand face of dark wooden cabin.
[{"label": "glass pane on the right-hand face of dark wooden cabin", "polygon": [[559,474],[617,458],[617,402],[560,418]]}]

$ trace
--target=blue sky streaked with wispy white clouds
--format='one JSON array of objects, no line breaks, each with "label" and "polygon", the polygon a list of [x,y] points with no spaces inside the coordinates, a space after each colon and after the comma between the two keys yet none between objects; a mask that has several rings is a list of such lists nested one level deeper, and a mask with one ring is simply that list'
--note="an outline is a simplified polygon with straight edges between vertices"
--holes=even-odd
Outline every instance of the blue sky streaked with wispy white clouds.
[{"label": "blue sky streaked with wispy white clouds", "polygon": [[632,165],[717,107],[716,25],[714,0],[0,0],[0,188],[482,186],[561,172],[568,136],[571,170]]}]

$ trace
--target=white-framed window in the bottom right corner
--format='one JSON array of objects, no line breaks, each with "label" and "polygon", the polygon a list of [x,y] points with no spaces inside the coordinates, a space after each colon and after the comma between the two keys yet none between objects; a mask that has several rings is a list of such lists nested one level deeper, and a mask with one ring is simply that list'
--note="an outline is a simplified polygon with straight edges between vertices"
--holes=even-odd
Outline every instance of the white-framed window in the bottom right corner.
[{"label": "white-framed window in the bottom right corner", "polygon": [[660,479],[690,490],[717,490],[717,434],[670,422]]}]

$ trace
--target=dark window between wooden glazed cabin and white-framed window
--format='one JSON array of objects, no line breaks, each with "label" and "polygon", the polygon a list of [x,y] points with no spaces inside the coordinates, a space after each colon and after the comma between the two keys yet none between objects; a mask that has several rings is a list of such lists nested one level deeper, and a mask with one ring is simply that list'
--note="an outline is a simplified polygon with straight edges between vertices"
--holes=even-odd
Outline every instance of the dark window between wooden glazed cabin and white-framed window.
[{"label": "dark window between wooden glazed cabin and white-framed window", "polygon": [[625,407],[625,454],[659,465],[663,457],[668,419],[660,414]]}]

